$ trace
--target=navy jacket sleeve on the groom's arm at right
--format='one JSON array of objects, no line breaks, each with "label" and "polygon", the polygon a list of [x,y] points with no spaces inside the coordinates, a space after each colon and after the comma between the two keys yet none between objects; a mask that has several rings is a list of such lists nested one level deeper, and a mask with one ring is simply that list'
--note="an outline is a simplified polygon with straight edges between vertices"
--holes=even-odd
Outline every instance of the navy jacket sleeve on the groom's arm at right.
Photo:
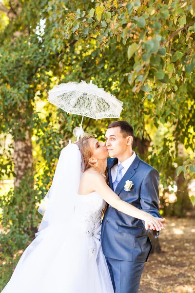
[{"label": "navy jacket sleeve on the groom's arm at right", "polygon": [[[154,217],[161,218],[159,214],[159,173],[156,169],[151,169],[143,179],[140,189],[141,209],[149,212]],[[154,234],[154,233],[152,233]],[[156,231],[158,236],[159,232]]]}]

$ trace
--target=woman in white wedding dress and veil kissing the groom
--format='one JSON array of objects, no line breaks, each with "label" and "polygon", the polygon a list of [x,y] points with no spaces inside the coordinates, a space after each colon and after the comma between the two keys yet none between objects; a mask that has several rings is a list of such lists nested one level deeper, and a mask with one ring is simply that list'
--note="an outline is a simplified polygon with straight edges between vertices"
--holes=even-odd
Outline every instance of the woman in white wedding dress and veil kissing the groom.
[{"label": "woman in white wedding dress and veil kissing the groom", "polygon": [[39,212],[36,238],[22,254],[2,293],[114,293],[100,243],[106,202],[141,219],[148,230],[164,219],[120,200],[106,177],[105,143],[85,135],[61,151],[52,186]]}]

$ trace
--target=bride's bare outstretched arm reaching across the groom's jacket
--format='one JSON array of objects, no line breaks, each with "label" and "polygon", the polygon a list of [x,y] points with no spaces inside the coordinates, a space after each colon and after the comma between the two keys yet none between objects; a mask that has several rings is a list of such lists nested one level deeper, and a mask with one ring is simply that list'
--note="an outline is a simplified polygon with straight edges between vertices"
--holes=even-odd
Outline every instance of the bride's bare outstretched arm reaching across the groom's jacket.
[{"label": "bride's bare outstretched arm reaching across the groom's jacket", "polygon": [[153,215],[143,210],[137,209],[131,204],[128,204],[127,202],[121,200],[119,196],[111,188],[108,187],[101,174],[94,173],[90,174],[89,176],[91,178],[88,178],[88,182],[90,182],[90,184],[93,184],[93,188],[95,189],[95,191],[97,191],[98,194],[110,206],[129,216],[145,221],[145,228],[147,230],[149,226],[151,226],[152,228],[155,227],[157,231],[164,229],[162,222],[164,222],[165,219],[154,217]]}]

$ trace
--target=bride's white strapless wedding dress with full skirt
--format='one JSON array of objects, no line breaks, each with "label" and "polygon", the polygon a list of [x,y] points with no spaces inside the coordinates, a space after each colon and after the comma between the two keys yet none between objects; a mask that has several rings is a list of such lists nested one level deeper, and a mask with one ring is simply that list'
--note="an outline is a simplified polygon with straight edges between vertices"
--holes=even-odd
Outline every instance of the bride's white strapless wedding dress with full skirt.
[{"label": "bride's white strapless wedding dress with full skirt", "polygon": [[1,293],[114,293],[100,243],[105,201],[94,191],[74,194],[73,209],[63,202],[61,205],[58,212],[64,210],[63,217],[58,219],[55,213],[54,221],[50,213],[45,215],[47,225],[42,220],[44,227],[22,254]]}]

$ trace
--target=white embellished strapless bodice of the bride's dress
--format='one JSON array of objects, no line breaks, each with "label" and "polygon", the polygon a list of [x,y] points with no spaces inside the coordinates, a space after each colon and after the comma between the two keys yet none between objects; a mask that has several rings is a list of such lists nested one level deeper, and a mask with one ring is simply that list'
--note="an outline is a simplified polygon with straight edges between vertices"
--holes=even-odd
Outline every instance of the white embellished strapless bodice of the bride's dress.
[{"label": "white embellished strapless bodice of the bride's dress", "polygon": [[94,191],[87,195],[79,195],[75,207],[75,219],[79,233],[92,237],[90,257],[98,255],[101,237],[101,213],[106,202]]}]

